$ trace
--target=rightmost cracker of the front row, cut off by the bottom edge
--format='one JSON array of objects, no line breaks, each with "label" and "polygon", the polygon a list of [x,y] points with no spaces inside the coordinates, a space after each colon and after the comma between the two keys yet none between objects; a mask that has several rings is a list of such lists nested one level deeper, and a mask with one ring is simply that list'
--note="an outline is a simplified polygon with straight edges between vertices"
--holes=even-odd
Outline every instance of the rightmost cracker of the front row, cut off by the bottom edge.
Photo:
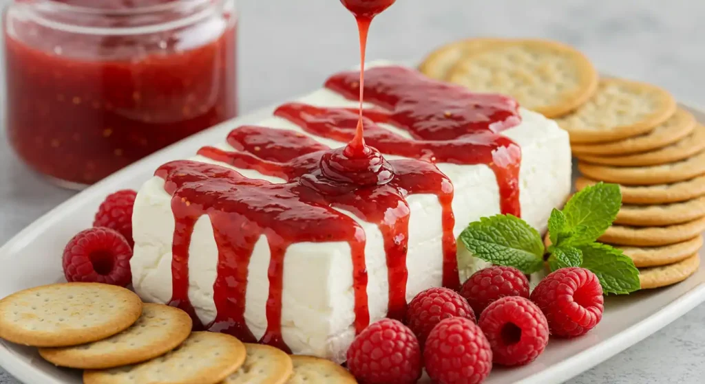
[{"label": "rightmost cracker of the front row, cut off by the bottom edge", "polygon": [[320,357],[300,356],[291,357],[294,372],[286,382],[287,384],[354,384],[355,377],[347,369],[333,361]]}]

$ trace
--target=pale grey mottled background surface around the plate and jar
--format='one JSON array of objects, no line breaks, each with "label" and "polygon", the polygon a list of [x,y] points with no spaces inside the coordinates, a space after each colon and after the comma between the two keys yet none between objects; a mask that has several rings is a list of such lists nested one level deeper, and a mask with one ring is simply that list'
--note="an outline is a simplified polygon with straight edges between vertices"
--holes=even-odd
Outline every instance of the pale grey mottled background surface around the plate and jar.
[{"label": "pale grey mottled background surface around the plate and jar", "polygon": [[[0,0],[0,3],[8,0]],[[546,37],[603,71],[705,105],[705,1],[398,0],[374,23],[369,58],[418,60],[462,37]],[[247,113],[319,87],[357,60],[337,0],[241,0],[240,107]],[[0,129],[0,131],[2,131]],[[27,172],[0,133],[0,243],[73,193]],[[702,383],[705,305],[569,383]],[[0,384],[16,384],[0,369]]]}]

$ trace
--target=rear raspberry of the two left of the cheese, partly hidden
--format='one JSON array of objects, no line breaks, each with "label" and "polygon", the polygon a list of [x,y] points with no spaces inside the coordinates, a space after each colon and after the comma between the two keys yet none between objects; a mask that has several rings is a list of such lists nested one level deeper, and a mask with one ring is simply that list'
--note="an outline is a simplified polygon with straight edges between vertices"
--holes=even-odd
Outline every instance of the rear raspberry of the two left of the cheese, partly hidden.
[{"label": "rear raspberry of the two left of the cheese, partly hidden", "polygon": [[132,211],[137,192],[123,189],[109,195],[98,208],[93,226],[115,229],[125,236],[130,247],[135,246],[132,237]]}]

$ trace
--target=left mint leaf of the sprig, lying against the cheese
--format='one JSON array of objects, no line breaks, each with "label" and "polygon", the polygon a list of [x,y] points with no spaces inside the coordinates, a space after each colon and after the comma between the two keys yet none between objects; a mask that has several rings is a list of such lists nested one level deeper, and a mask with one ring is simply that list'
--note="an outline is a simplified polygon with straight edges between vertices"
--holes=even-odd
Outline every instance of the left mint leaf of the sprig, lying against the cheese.
[{"label": "left mint leaf of the sprig, lying against the cheese", "polygon": [[544,242],[536,229],[512,215],[482,217],[460,233],[475,257],[532,274],[544,264]]}]

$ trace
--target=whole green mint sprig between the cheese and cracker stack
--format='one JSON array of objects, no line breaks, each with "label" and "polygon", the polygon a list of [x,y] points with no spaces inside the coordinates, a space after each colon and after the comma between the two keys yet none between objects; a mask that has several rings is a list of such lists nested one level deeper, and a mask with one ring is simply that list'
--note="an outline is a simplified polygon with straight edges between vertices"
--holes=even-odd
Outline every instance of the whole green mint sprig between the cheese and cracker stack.
[{"label": "whole green mint sprig between the cheese and cracker stack", "polygon": [[[622,205],[616,184],[599,183],[575,193],[563,210],[548,219],[552,271],[583,267],[599,279],[605,293],[625,294],[639,289],[639,270],[621,250],[596,240],[612,225]],[[512,215],[483,217],[460,233],[460,241],[474,256],[531,274],[544,263],[539,232]]]}]

